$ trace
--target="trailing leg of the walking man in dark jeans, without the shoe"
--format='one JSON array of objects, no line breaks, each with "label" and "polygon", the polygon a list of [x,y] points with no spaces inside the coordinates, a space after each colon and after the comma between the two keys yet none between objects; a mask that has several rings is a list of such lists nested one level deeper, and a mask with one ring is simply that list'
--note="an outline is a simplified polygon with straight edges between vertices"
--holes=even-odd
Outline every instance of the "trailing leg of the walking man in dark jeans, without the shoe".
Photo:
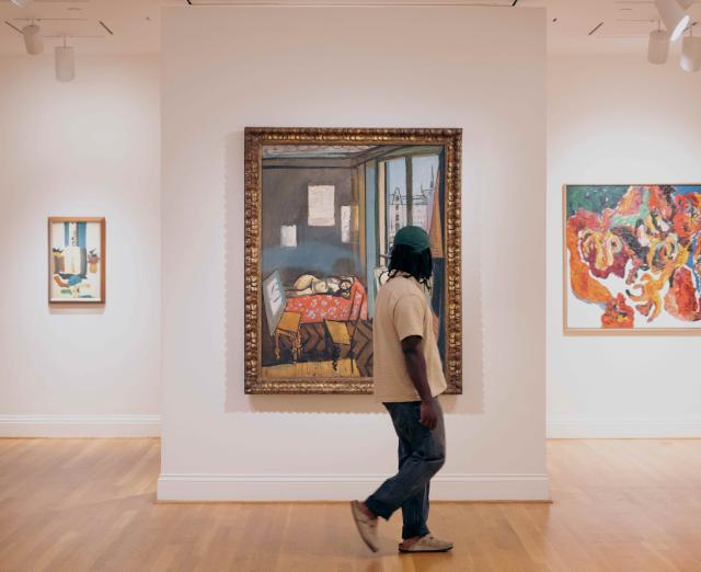
[{"label": "trailing leg of the walking man in dark jeans, without the shoe", "polygon": [[420,422],[420,402],[386,403],[397,435],[400,442],[404,441],[407,444],[411,454],[401,464],[399,472],[384,481],[365,502],[365,506],[372,514],[389,519],[392,513],[410,499],[424,492],[427,495],[427,484],[443,467],[446,455],[443,411],[438,400],[435,402],[438,422],[430,431]]}]

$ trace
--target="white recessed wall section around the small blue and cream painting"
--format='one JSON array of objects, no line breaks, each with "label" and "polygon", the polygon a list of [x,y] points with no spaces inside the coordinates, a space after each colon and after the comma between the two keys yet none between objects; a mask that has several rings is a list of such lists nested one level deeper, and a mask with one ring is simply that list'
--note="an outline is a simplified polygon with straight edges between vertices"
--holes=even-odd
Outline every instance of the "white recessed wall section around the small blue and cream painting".
[{"label": "white recessed wall section around the small blue and cream painting", "polygon": [[[154,434],[160,400],[158,60],[0,58],[0,435]],[[107,302],[49,308],[47,217],[106,217]]]}]

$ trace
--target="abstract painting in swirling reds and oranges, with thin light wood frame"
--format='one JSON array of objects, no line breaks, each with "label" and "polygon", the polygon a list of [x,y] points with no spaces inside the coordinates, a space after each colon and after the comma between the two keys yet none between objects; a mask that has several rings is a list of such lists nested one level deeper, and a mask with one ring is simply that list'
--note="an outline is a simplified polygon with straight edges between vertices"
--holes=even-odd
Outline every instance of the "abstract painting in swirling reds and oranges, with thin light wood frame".
[{"label": "abstract painting in swirling reds and oranges, with thin light wood frame", "polygon": [[565,334],[701,333],[701,185],[565,185]]}]

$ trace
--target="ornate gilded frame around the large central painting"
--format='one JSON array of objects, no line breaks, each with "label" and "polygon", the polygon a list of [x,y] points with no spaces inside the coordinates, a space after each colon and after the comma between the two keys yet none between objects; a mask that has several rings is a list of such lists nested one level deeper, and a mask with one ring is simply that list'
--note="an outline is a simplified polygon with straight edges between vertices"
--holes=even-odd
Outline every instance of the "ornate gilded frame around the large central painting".
[{"label": "ornate gilded frame around the large central painting", "polygon": [[462,393],[461,161],[462,129],[245,128],[245,361],[246,393],[372,393],[372,379],[265,379],[261,375],[264,318],[261,293],[262,150],[265,145],[439,145],[445,152],[446,380]]}]

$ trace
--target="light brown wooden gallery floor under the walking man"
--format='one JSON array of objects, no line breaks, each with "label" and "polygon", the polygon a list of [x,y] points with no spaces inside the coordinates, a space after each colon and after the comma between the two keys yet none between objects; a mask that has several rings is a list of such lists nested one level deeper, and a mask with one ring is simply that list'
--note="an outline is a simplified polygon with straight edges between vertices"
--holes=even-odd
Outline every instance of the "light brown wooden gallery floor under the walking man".
[{"label": "light brown wooden gallery floor under the walking man", "polygon": [[[0,439],[0,570],[701,571],[701,441],[555,441],[553,504],[436,503],[447,554],[345,504],[154,504],[158,439]],[[398,515],[399,516],[399,515]]]}]

